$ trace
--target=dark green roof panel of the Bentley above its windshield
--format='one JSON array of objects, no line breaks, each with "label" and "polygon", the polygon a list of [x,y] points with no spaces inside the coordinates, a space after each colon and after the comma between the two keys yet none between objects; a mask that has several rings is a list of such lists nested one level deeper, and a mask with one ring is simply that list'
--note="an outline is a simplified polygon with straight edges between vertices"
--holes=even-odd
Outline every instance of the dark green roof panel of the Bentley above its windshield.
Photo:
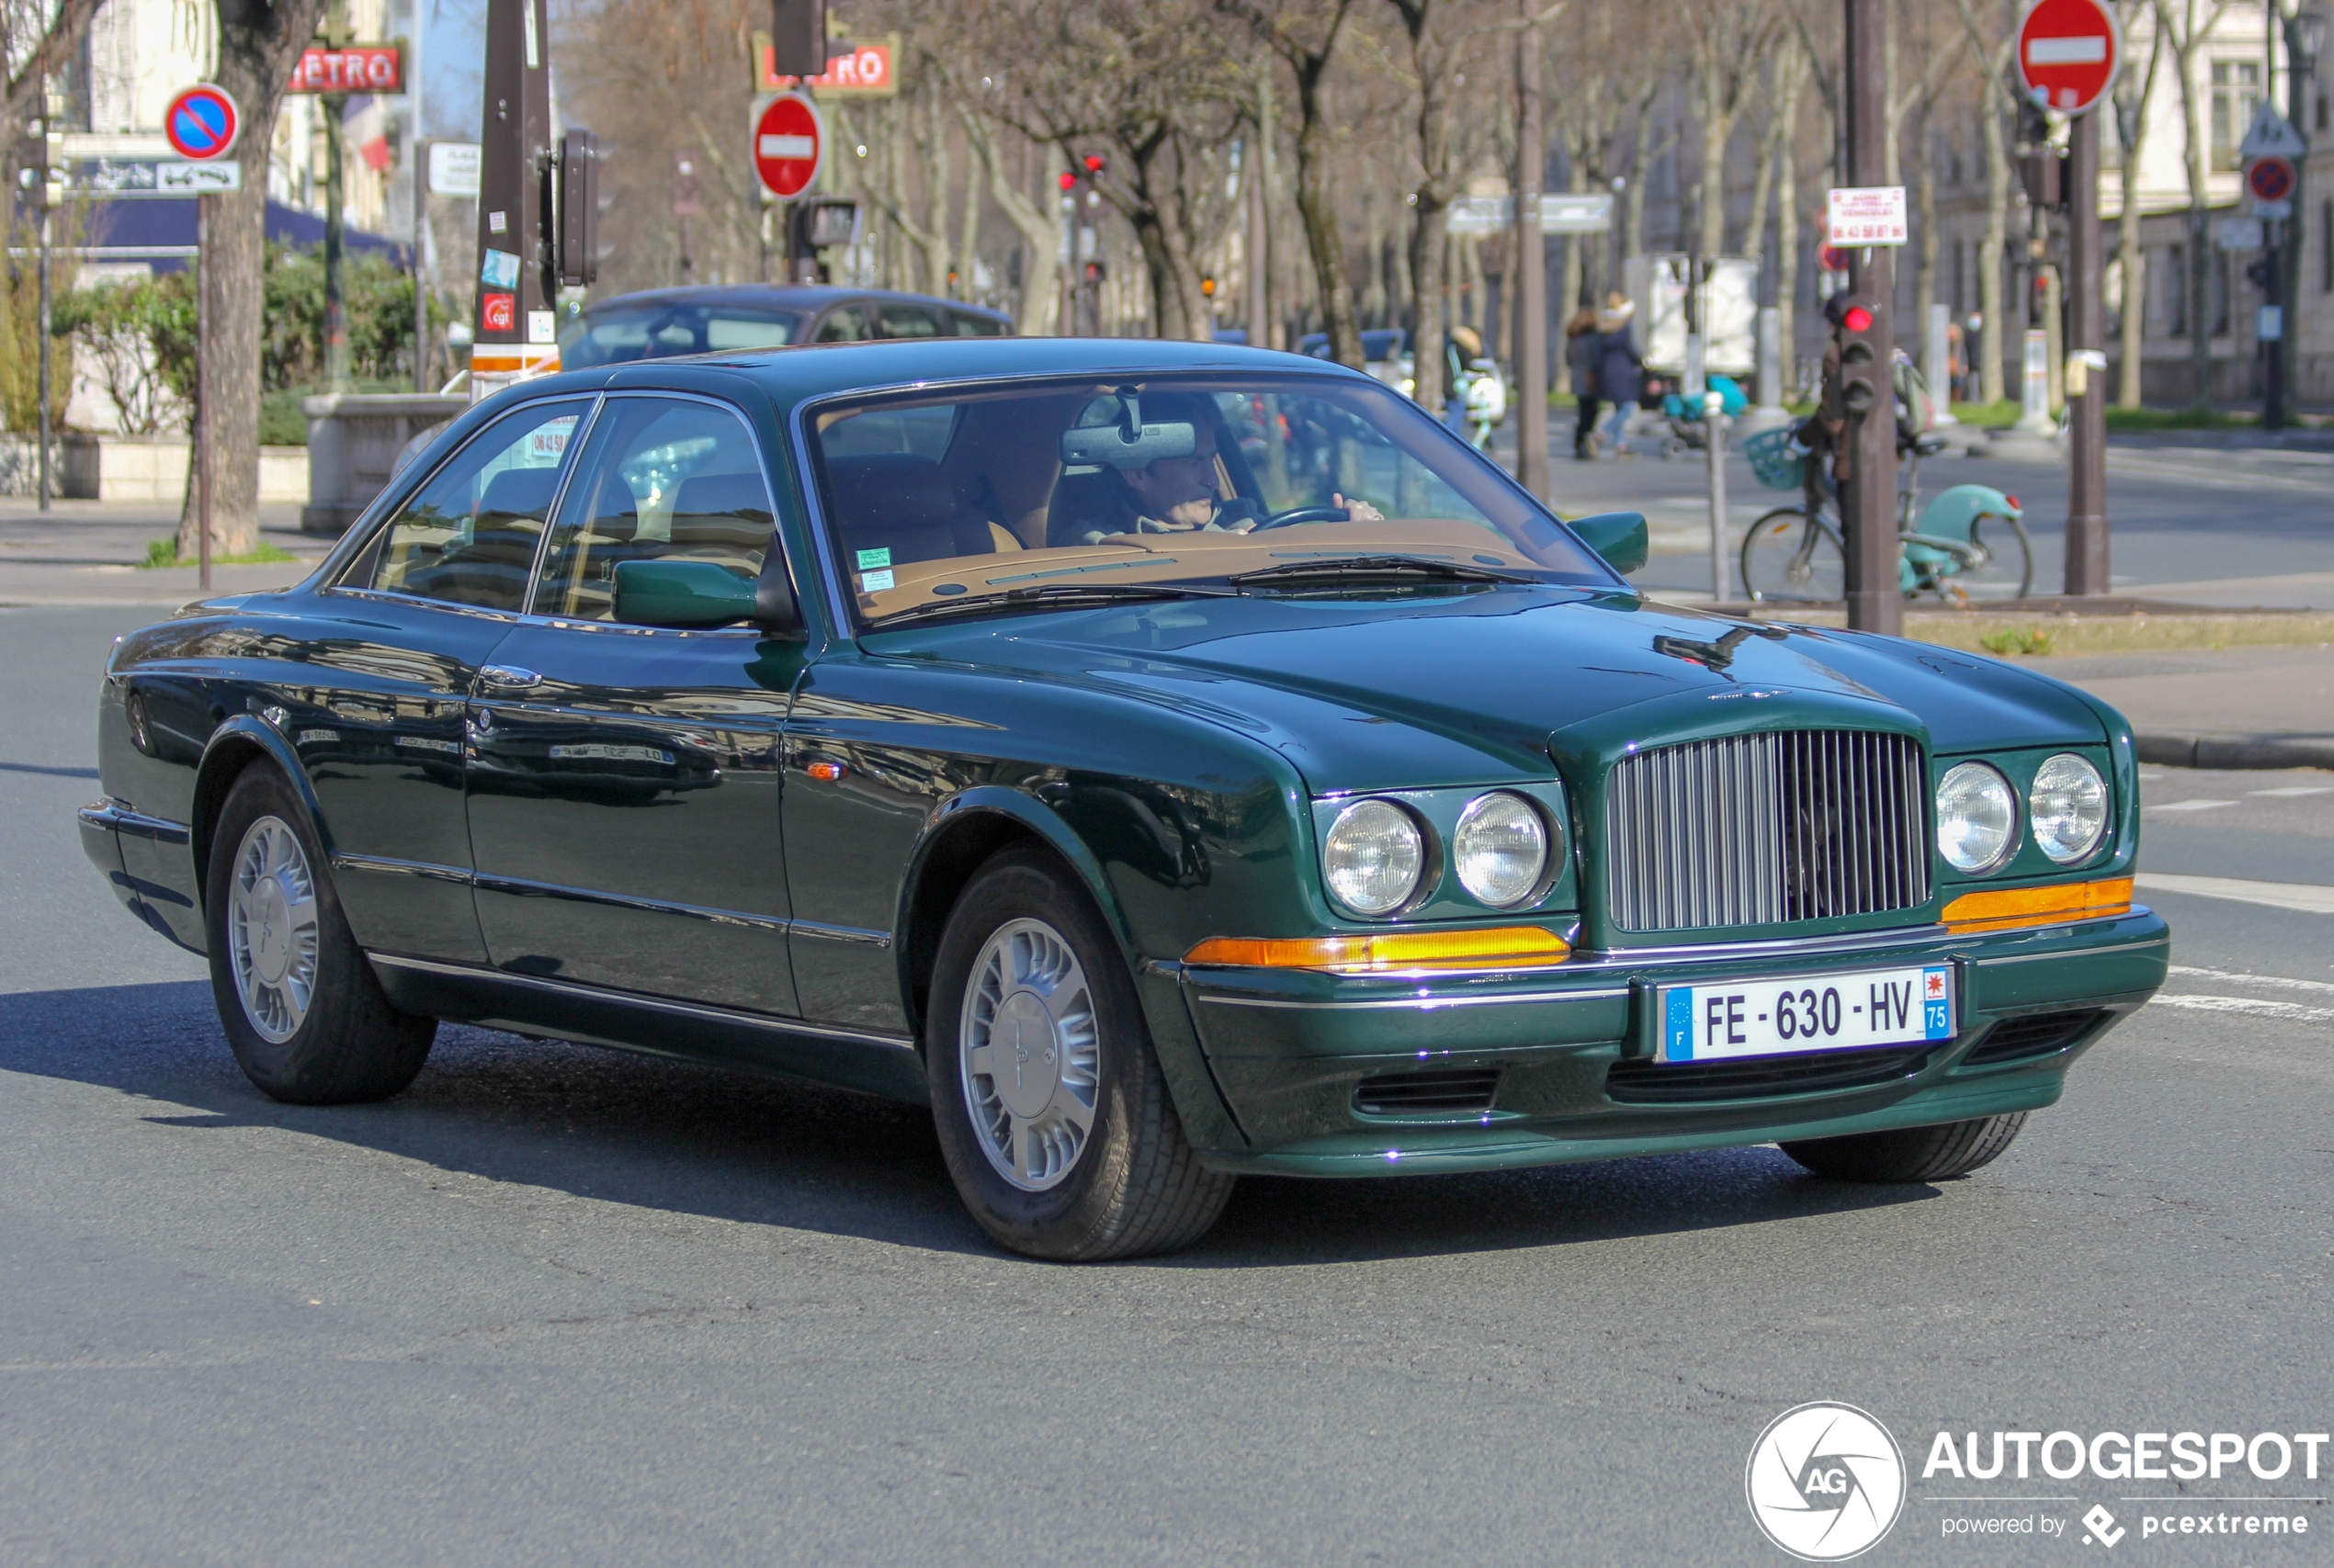
[{"label": "dark green roof panel of the Bentley above its windshield", "polygon": [[1351,376],[1309,355],[1235,343],[1183,343],[1162,338],[878,338],[873,343],[805,343],[717,355],[630,359],[520,383],[527,397],[595,392],[600,387],[703,387],[703,371],[740,373],[777,404],[798,404],[836,392],[920,387],[952,380],[1004,380],[1020,376],[1158,376],[1174,371],[1249,371]]}]

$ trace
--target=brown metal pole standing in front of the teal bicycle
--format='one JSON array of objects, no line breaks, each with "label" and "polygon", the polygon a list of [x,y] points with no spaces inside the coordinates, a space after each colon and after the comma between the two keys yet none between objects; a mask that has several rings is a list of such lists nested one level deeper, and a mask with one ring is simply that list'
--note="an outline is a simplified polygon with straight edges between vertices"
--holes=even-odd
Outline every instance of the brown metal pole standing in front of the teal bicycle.
[{"label": "brown metal pole standing in front of the teal bicycle", "polygon": [[[1849,184],[1888,184],[1888,14],[1881,0],[1846,0],[1844,70],[1849,112]],[[1895,252],[1867,245],[1849,252],[1849,289],[1872,310],[1872,343],[1886,355],[1895,343]],[[1881,387],[1888,366],[1881,364]],[[1905,630],[1905,593],[1898,588],[1895,532],[1895,399],[1886,392],[1849,415],[1849,483],[1839,488],[1846,525],[1849,625],[1895,637]]]}]

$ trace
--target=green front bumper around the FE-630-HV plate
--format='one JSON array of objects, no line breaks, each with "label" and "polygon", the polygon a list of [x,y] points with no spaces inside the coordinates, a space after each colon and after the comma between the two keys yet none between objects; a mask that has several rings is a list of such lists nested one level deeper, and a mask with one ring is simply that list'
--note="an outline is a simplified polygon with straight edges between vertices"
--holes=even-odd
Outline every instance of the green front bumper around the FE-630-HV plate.
[{"label": "green front bumper around the FE-630-HV plate", "polygon": [[[1582,952],[1531,973],[1347,978],[1174,968],[1239,1127],[1202,1150],[1225,1171],[1384,1176],[1823,1139],[2033,1111],[2068,1064],[2145,1003],[2171,959],[2152,910],[2028,931],[1893,933]],[[1800,1057],[1762,1083],[1652,1062],[1657,985],[1949,961],[1958,1034],[1921,1050]],[[2017,1022],[2014,1022],[2017,1020]],[[2005,1029],[2003,1024],[2012,1024]],[[1991,1041],[1991,1045],[1989,1045]],[[1802,1071],[1804,1064],[1804,1071]],[[1400,1073],[1496,1071],[1487,1106],[1363,1111]]]}]

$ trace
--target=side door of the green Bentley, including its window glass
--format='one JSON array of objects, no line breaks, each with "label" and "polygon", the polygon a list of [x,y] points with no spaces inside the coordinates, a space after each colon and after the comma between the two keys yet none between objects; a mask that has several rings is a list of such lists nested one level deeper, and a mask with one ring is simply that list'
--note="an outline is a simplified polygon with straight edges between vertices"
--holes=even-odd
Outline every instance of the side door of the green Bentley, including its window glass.
[{"label": "side door of the green Bentley, including its window glass", "polygon": [[780,733],[801,646],[619,625],[614,572],[752,581],[773,506],[728,404],[614,392],[471,702],[469,835],[497,968],[791,1015]]}]

